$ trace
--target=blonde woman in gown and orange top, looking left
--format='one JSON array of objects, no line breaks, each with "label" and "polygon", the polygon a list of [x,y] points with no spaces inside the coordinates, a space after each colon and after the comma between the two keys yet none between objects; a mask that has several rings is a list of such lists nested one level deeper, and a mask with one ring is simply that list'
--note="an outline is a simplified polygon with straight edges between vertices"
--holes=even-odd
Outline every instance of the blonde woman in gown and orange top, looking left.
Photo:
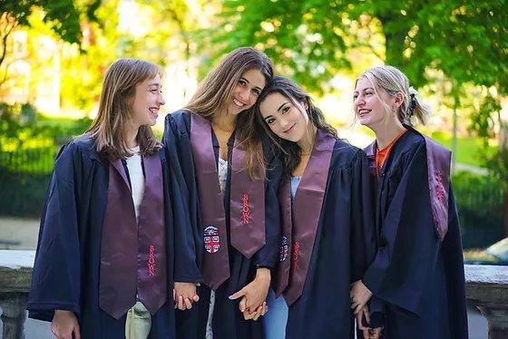
[{"label": "blonde woman in gown and orange top, looking left", "polygon": [[360,123],[376,133],[366,153],[377,182],[379,247],[352,289],[352,307],[373,295],[371,321],[383,315],[389,339],[467,338],[450,151],[411,127],[430,110],[395,67],[362,73],[354,103]]}]

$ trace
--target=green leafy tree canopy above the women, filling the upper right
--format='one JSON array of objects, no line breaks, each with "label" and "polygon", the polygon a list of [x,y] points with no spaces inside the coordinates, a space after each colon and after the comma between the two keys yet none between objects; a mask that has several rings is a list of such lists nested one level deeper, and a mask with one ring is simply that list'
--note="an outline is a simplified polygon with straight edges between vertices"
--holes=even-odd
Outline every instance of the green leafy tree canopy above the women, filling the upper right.
[{"label": "green leafy tree canopy above the women, filling the upper right", "polygon": [[499,133],[499,151],[487,163],[505,185],[508,235],[508,128],[499,113],[508,92],[506,3],[225,0],[222,23],[210,42],[220,46],[220,53],[257,46],[279,72],[318,93],[330,90],[329,81],[338,72],[357,74],[357,65],[371,55],[401,68],[415,87],[433,82],[433,73],[442,72],[453,86],[449,95],[454,111],[463,102],[464,85],[480,87],[484,104],[474,111],[471,125],[484,138]]}]

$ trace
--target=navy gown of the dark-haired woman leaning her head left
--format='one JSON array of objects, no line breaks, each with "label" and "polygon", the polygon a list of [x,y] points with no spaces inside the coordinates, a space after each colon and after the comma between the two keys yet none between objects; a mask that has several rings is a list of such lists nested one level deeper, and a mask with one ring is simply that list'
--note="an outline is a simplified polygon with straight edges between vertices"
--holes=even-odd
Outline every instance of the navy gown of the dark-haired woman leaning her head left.
[{"label": "navy gown of the dark-haired woman leaning her head left", "polygon": [[365,153],[337,140],[303,293],[289,306],[287,338],[355,337],[349,290],[376,253],[372,206]]}]

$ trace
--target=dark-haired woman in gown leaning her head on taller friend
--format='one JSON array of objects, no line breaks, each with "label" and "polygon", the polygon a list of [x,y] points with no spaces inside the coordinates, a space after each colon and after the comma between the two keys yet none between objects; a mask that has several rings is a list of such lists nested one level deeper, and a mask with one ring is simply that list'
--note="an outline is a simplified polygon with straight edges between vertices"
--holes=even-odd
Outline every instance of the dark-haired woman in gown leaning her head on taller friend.
[{"label": "dark-haired woman in gown leaning her head on taller friend", "polygon": [[338,139],[287,78],[276,76],[265,87],[254,116],[284,163],[283,237],[266,337],[354,338],[349,289],[376,249],[366,155]]}]

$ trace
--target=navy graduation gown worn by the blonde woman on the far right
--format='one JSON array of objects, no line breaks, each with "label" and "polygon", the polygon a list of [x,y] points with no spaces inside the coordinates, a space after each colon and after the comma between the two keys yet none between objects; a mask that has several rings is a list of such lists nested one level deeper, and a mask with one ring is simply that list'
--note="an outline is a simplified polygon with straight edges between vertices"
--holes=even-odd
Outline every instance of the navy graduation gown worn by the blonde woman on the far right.
[{"label": "navy graduation gown worn by the blonde woman on the far right", "polygon": [[[375,159],[369,157],[371,168]],[[409,129],[388,155],[377,179],[376,259],[366,271],[371,312],[385,314],[385,337],[467,338],[464,262],[450,185],[448,231],[435,230],[425,140]]]}]

